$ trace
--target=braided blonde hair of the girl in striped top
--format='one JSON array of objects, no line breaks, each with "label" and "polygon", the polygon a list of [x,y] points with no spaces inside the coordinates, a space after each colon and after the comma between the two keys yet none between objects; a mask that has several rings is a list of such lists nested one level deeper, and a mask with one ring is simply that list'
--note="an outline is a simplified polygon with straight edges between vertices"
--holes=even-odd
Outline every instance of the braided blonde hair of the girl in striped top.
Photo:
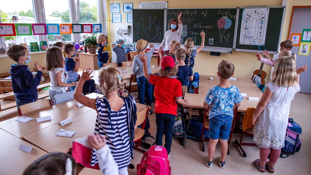
[{"label": "braided blonde hair of the girl in striped top", "polygon": [[[118,90],[122,97],[128,97],[127,93],[124,93],[124,80],[120,75],[118,69],[108,66],[100,68],[99,74],[99,81],[100,81],[100,89],[103,95],[108,95],[110,92]],[[121,80],[119,79],[121,78]]]}]

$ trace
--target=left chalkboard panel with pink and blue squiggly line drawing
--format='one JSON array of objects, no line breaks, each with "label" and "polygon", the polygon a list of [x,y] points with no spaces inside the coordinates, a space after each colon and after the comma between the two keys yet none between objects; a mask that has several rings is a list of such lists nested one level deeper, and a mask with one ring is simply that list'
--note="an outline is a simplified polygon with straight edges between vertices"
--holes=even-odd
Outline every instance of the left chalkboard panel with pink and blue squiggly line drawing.
[{"label": "left chalkboard panel with pink and blue squiggly line drawing", "polygon": [[164,37],[164,9],[132,9],[133,42],[140,39],[161,43]]}]

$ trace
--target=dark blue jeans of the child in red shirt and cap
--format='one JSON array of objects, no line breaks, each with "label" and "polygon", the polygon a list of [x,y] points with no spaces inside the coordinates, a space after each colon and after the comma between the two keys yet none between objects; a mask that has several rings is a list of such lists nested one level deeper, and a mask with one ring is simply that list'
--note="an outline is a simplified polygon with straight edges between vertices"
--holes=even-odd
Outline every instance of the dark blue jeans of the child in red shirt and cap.
[{"label": "dark blue jeans of the child in red shirt and cap", "polygon": [[172,132],[175,123],[175,115],[156,113],[156,145],[162,146],[163,134],[165,135],[164,147],[167,154],[171,152]]}]

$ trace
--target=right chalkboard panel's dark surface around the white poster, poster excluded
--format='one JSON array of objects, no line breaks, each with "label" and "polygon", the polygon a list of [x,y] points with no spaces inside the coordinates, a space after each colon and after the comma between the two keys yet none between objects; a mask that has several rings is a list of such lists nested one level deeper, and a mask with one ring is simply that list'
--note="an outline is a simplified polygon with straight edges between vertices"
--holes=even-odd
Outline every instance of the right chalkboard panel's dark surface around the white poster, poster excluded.
[{"label": "right chalkboard panel's dark surface around the white poster, poster excluded", "polygon": [[[252,7],[255,8],[255,7]],[[270,8],[267,22],[267,33],[265,45],[242,45],[239,43],[240,40],[240,24],[243,20],[243,9],[239,9],[239,21],[236,32],[236,42],[235,50],[236,51],[247,51],[247,52],[262,52],[263,50],[269,50],[270,53],[278,52],[278,46],[281,40],[281,32],[284,21],[285,7],[258,7],[260,8]],[[260,49],[259,49],[260,48]]]}]

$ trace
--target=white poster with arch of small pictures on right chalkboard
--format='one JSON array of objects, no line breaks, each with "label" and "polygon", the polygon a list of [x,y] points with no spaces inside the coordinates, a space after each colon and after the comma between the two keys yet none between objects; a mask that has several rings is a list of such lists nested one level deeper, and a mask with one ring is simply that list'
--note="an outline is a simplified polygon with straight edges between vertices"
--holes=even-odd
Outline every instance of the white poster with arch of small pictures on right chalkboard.
[{"label": "white poster with arch of small pictures on right chalkboard", "polygon": [[240,44],[264,45],[266,40],[269,8],[243,10]]}]

